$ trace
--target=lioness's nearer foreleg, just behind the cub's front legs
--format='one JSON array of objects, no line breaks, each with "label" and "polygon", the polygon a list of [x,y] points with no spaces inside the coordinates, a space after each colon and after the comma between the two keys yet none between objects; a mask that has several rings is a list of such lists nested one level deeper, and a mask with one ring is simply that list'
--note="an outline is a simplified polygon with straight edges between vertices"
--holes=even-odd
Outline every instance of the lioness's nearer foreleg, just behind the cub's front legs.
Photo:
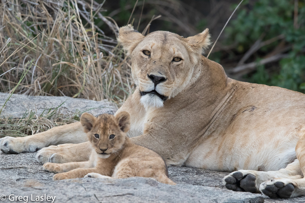
[{"label": "lioness's nearer foreleg, just behind the cub's front legs", "polygon": [[39,150],[36,159],[40,163],[67,163],[88,161],[92,151],[90,142],[49,146]]}]

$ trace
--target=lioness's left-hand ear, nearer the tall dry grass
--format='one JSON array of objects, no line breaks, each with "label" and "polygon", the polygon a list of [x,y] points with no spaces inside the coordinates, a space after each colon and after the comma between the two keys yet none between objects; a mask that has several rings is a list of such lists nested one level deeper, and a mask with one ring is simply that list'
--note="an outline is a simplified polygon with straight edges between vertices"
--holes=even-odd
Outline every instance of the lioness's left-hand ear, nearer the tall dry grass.
[{"label": "lioness's left-hand ear, nearer the tall dry grass", "polygon": [[144,36],[131,26],[131,24],[121,27],[119,30],[118,42],[123,46],[123,49],[127,52],[127,56],[130,56],[131,52],[139,44]]}]

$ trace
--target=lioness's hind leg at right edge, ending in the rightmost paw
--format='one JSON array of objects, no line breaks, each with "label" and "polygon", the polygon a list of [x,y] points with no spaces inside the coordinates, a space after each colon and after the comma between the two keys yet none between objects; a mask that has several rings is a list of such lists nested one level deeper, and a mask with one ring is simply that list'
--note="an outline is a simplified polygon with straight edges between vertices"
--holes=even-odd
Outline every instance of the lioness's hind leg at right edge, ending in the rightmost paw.
[{"label": "lioness's hind leg at right edge, ending in the rightmost paw", "polygon": [[[279,177],[268,180],[260,185],[260,191],[271,198],[291,198],[305,195],[305,129],[303,135],[296,144],[296,157],[300,162],[301,177]],[[287,166],[288,167],[288,166]]]}]

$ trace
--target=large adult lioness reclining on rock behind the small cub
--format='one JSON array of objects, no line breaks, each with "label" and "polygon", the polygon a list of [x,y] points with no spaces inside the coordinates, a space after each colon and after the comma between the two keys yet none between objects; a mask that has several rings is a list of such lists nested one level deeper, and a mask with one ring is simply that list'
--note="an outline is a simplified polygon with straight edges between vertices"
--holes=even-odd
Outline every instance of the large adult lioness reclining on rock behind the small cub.
[{"label": "large adult lioness reclining on rock behind the small cub", "polygon": [[[228,78],[221,65],[201,54],[210,44],[207,29],[187,38],[166,31],[143,36],[128,25],[120,28],[118,41],[131,57],[137,89],[116,114],[131,115],[128,136],[134,143],[167,164],[239,170],[224,179],[231,190],[272,198],[305,194],[304,94]],[[2,138],[0,148],[41,149],[39,162],[65,163],[89,159],[86,141],[77,122]]]}]

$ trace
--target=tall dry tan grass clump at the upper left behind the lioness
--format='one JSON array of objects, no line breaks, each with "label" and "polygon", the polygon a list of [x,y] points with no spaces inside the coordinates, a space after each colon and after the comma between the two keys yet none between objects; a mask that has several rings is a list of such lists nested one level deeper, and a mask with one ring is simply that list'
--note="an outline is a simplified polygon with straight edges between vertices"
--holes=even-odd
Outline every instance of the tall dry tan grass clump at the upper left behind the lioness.
[{"label": "tall dry tan grass clump at the upper left behind the lioness", "polygon": [[1,92],[11,93],[33,60],[15,93],[124,101],[133,91],[129,64],[116,40],[95,26],[99,18],[117,35],[116,23],[100,11],[95,1],[2,1]]}]

